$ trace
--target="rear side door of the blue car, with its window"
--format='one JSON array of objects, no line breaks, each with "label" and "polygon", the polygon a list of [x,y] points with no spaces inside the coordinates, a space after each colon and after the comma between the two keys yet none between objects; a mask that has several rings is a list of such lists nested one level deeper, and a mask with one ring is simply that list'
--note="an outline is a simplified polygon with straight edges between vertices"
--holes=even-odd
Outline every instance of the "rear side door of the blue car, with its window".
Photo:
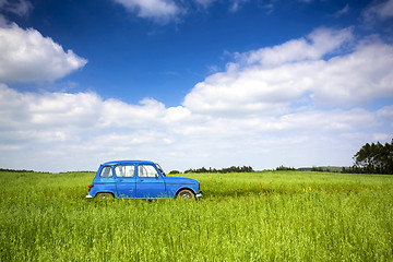
[{"label": "rear side door of the blue car, with its window", "polygon": [[135,198],[135,166],[118,165],[115,167],[117,195],[119,198]]}]

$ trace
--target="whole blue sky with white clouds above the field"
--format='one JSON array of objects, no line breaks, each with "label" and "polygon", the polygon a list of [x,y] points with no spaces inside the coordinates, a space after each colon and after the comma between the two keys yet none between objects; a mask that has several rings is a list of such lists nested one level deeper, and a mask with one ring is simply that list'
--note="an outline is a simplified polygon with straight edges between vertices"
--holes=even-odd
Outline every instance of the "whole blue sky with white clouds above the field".
[{"label": "whole blue sky with white clouds above the field", "polygon": [[393,138],[393,0],[0,0],[0,167],[350,166]]}]

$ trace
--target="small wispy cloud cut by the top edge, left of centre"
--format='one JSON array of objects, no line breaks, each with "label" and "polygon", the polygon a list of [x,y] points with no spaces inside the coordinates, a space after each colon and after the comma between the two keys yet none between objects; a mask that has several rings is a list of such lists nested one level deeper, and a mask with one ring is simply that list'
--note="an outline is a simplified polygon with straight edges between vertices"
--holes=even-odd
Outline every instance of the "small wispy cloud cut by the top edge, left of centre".
[{"label": "small wispy cloud cut by the top edge, left of centre", "polygon": [[168,22],[176,19],[181,9],[171,0],[115,0],[138,16]]}]

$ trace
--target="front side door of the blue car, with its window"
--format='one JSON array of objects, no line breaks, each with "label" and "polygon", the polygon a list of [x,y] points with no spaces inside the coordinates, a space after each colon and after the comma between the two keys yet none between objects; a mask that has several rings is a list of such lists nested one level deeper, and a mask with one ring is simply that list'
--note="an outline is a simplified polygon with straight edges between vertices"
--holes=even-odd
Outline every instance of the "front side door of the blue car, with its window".
[{"label": "front side door of the blue car, with its window", "polygon": [[152,199],[165,196],[164,177],[153,165],[138,165],[136,198]]}]

